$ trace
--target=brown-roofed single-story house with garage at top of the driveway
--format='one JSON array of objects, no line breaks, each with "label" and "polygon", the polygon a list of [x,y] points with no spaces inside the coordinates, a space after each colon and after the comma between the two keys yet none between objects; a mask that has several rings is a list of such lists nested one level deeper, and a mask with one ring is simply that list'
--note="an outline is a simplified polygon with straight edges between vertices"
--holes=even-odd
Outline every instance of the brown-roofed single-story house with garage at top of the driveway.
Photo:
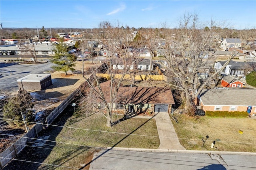
[{"label": "brown-roofed single-story house with garage at top of the driveway", "polygon": [[[110,103],[110,87],[104,82],[101,85],[105,100]],[[98,100],[101,108],[104,103]],[[142,112],[171,112],[174,105],[174,98],[170,88],[158,87],[120,87],[118,90],[113,109],[123,113],[142,113]]]}]

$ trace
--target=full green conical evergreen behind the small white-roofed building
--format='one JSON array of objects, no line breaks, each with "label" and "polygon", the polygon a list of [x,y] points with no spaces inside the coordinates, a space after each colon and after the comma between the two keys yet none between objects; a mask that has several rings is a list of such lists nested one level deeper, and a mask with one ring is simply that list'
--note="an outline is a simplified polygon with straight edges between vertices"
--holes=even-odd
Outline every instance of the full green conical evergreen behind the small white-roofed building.
[{"label": "full green conical evergreen behind the small white-roofed building", "polygon": [[67,75],[67,71],[74,71],[73,68],[76,64],[74,63],[77,59],[76,55],[67,53],[68,45],[64,42],[64,38],[60,39],[60,42],[55,45],[56,54],[50,60],[56,64],[52,66],[55,71],[64,71]]}]

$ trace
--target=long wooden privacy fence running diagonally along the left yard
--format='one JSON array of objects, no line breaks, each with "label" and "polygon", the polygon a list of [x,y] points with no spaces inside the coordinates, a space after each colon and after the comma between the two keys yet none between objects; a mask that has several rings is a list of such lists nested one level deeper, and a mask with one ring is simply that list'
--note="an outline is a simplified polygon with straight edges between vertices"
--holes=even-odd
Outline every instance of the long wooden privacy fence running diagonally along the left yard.
[{"label": "long wooden privacy fence running diagonally along the left yard", "polygon": [[50,113],[48,117],[46,117],[46,120],[42,119],[41,121],[37,122],[33,128],[31,128],[23,136],[20,136],[20,138],[14,144],[12,144],[9,148],[4,150],[4,152],[0,154],[1,169],[6,164],[8,164],[8,162],[10,162],[15,156],[17,156],[18,153],[22,151],[22,149],[26,147],[27,142],[30,142],[35,137],[38,137],[38,133],[41,132],[41,130],[43,130],[44,127],[48,127],[48,125],[50,125],[54,121],[54,119],[56,119],[56,117],[58,117],[58,115],[60,115],[62,111],[64,111],[64,109],[69,105],[69,103],[74,100],[74,93],[76,93],[76,91],[74,91],[64,101],[62,101],[62,103],[60,103],[60,105],[56,107],[56,109],[54,109],[54,111],[52,111],[52,113]]}]

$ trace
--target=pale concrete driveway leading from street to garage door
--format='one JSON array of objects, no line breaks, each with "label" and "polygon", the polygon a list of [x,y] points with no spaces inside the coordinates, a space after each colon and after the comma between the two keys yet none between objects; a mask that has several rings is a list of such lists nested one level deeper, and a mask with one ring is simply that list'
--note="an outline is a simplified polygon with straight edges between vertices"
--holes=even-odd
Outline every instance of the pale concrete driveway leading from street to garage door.
[{"label": "pale concrete driveway leading from street to garage door", "polygon": [[156,127],[160,139],[158,149],[186,150],[179,142],[172,121],[166,112],[156,113]]}]

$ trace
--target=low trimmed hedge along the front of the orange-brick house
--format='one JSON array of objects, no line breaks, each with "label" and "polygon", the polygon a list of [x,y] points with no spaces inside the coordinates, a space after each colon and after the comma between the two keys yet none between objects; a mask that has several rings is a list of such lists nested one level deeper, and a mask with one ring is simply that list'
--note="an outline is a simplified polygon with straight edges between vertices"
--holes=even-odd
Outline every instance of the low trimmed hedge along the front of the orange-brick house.
[{"label": "low trimmed hedge along the front of the orange-brick house", "polygon": [[205,115],[209,116],[209,117],[248,117],[247,112],[239,112],[239,111],[234,111],[234,112],[229,112],[229,111],[206,111]]}]

